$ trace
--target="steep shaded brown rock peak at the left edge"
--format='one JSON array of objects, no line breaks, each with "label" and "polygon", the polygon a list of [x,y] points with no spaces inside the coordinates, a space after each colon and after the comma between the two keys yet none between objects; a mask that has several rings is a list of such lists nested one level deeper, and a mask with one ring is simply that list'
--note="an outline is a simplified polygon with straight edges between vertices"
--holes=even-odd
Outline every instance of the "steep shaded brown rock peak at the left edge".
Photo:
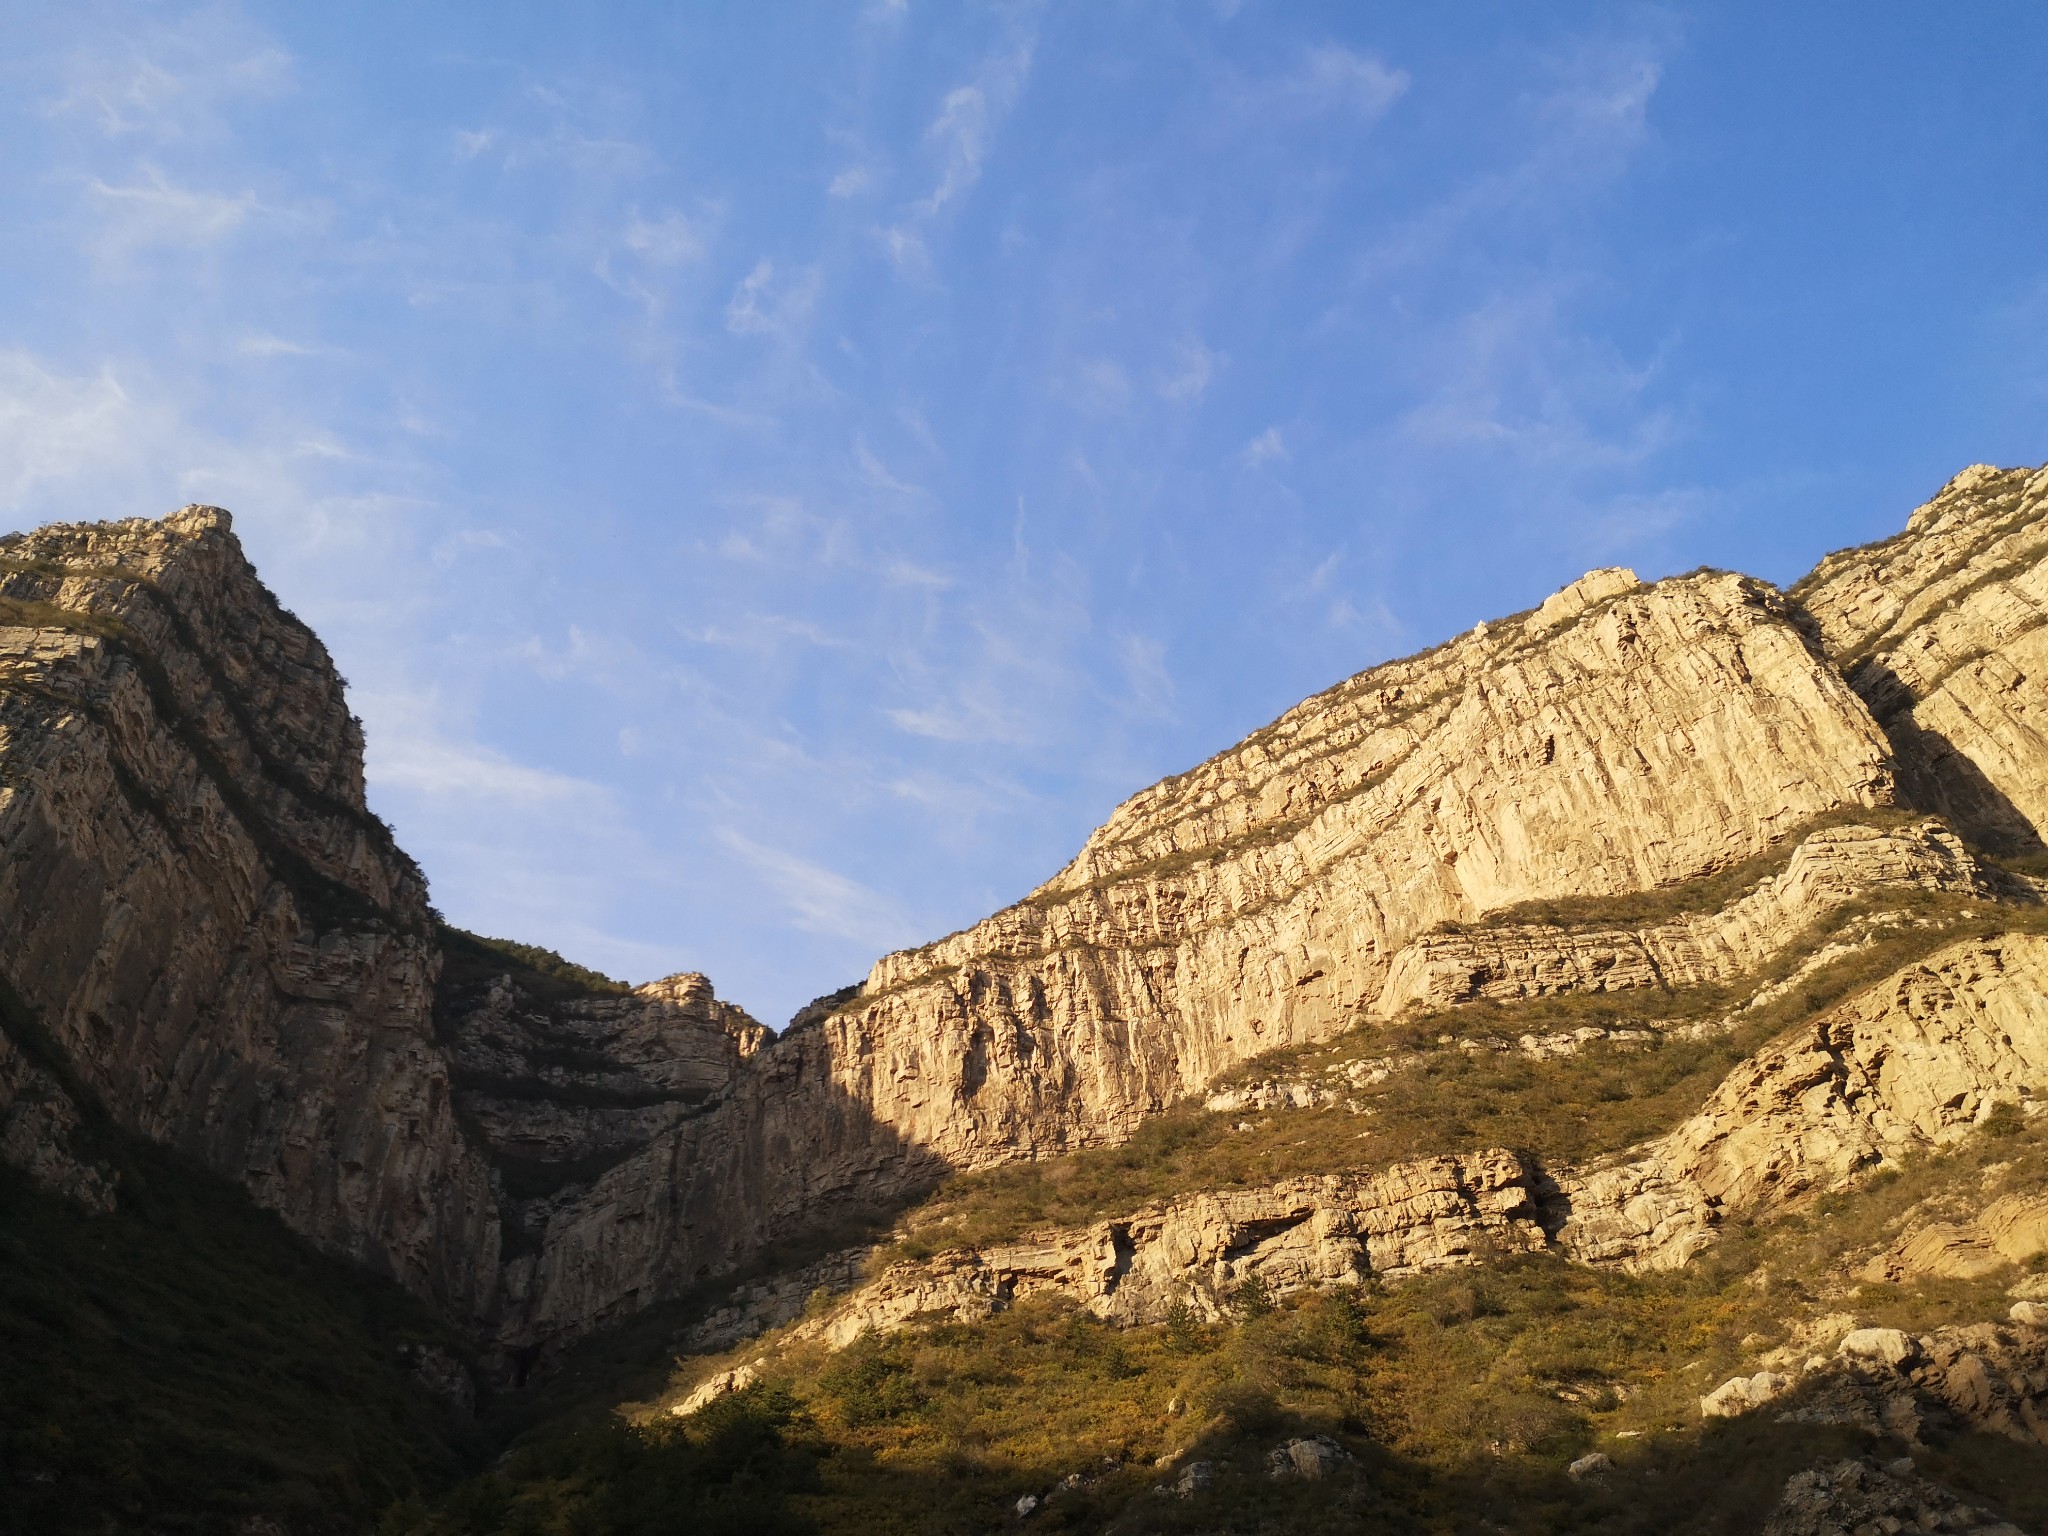
[{"label": "steep shaded brown rock peak at the left edge", "polygon": [[0,539],[0,973],[131,1130],[459,1317],[498,1212],[362,731],[225,512]]}]

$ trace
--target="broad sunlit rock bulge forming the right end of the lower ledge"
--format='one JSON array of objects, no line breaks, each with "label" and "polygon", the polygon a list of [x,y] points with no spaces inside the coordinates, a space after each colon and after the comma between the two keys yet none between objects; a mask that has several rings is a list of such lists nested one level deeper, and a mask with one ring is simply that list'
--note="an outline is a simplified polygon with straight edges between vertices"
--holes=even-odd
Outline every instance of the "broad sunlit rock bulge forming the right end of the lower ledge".
[{"label": "broad sunlit rock bulge forming the right end of the lower ledge", "polygon": [[2048,938],[1954,944],[1737,1067],[1616,1167],[1561,1176],[1575,1257],[1675,1268],[1724,1212],[1839,1188],[1944,1147],[2048,1085]]}]

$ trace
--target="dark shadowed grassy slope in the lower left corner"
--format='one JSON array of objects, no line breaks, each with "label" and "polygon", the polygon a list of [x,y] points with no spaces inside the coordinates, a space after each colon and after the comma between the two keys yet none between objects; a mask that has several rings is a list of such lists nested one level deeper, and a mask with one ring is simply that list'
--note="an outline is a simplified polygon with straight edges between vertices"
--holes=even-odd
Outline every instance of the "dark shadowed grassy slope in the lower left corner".
[{"label": "dark shadowed grassy slope in the lower left corner", "polygon": [[0,1528],[367,1528],[469,1462],[401,1350],[453,1348],[397,1286],[236,1186],[100,1130],[119,1210],[0,1167]]}]

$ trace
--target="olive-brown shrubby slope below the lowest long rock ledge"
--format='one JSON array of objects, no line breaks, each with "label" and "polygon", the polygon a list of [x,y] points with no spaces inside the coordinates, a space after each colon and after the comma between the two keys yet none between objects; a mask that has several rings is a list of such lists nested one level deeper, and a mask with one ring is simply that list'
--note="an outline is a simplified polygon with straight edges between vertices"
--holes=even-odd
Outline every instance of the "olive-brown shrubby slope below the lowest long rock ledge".
[{"label": "olive-brown shrubby slope below the lowest long rock ledge", "polygon": [[[2011,1276],[1870,1286],[1849,1272],[1931,1196],[1995,1198],[2044,1178],[2048,1126],[2025,1120],[1739,1227],[1677,1274],[1632,1278],[1538,1253],[1397,1284],[1239,1296],[1217,1323],[1182,1315],[1114,1329],[1040,1298],[836,1354],[770,1337],[735,1356],[762,1360],[768,1380],[684,1423],[711,1442],[725,1415],[772,1413],[772,1454],[803,1464],[764,1520],[821,1532],[1004,1530],[1028,1497],[1030,1526],[1055,1532],[1706,1536],[1755,1530],[1786,1479],[1817,1460],[1909,1450],[1966,1499],[2040,1522],[2048,1452],[2038,1446],[1929,1427],[1909,1448],[1776,1413],[1704,1421],[1698,1399],[1755,1372],[1761,1354],[1800,1348],[1800,1323],[1821,1313],[1911,1331],[2001,1315]],[[651,1446],[678,1434],[655,1403],[625,1405],[621,1423],[645,1425]],[[1315,1483],[1270,1477],[1268,1454],[1296,1436],[1325,1436],[1350,1460]],[[608,1444],[561,1436],[514,1458],[492,1497],[514,1509],[602,1487],[618,1454]],[[1593,1450],[1614,1470],[1569,1477]],[[678,1511],[700,1497],[688,1491]],[[406,1518],[414,1524],[389,1530],[639,1530]]]}]

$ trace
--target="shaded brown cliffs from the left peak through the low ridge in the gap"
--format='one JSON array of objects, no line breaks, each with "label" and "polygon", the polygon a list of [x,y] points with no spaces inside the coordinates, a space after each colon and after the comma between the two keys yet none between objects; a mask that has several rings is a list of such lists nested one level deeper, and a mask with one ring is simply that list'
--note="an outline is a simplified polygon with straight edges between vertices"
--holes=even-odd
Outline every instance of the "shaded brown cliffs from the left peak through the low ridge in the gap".
[{"label": "shaded brown cliffs from the left peak through the low ridge in the gap", "polygon": [[551,1225],[610,1221],[590,1186],[766,1038],[702,977],[586,995],[442,930],[215,508],[0,539],[0,1155],[106,1206],[74,1147],[104,1108],[514,1343],[532,1272],[578,1268]]}]

